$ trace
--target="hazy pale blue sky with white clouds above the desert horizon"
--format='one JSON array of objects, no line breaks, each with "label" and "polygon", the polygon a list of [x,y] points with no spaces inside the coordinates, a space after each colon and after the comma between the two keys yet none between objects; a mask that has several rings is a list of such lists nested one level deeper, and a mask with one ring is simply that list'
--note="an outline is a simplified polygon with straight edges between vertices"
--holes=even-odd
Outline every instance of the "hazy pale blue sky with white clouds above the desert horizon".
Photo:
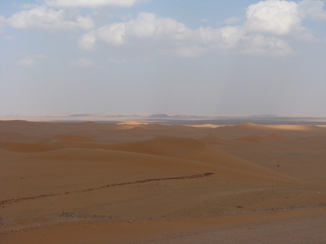
[{"label": "hazy pale blue sky with white clouds above the desert horizon", "polygon": [[323,0],[1,0],[0,114],[326,115]]}]

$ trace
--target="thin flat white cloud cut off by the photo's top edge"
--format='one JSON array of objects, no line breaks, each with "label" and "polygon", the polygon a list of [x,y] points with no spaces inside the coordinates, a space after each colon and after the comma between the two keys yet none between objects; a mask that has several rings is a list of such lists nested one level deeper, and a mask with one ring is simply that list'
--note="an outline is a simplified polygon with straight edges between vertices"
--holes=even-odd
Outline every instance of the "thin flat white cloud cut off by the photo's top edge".
[{"label": "thin flat white cloud cut off by the photo's top edge", "polygon": [[55,8],[100,8],[105,6],[131,7],[140,0],[45,0],[46,5]]}]

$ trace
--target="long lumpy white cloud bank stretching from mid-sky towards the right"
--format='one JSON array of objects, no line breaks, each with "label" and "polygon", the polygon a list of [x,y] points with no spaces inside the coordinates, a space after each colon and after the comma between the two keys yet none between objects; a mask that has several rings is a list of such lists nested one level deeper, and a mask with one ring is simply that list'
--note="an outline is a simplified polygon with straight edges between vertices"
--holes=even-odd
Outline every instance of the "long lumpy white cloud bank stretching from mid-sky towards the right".
[{"label": "long lumpy white cloud bank stretching from mid-sky towards the right", "polygon": [[[145,12],[126,22],[102,26],[97,29],[96,35],[99,40],[116,46],[128,44],[135,38],[157,40],[158,53],[179,57],[198,56],[208,49],[238,51],[242,48],[240,52],[243,54],[274,56],[286,55],[292,51],[285,41],[253,35],[245,26],[191,29],[174,19],[157,18],[154,14]],[[169,43],[169,47],[161,47],[159,43]]]}]

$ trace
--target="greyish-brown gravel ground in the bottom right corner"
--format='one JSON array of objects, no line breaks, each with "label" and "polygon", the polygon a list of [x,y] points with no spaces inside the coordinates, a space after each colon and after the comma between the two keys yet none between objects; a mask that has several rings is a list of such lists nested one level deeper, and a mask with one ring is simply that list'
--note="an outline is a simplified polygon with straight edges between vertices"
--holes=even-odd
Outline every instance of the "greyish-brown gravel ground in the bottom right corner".
[{"label": "greyish-brown gravel ground in the bottom right corner", "polygon": [[[137,242],[144,243],[144,242]],[[326,243],[326,217],[302,217],[291,220],[246,224],[209,232],[182,233],[146,240],[146,243],[178,244],[279,244]]]}]

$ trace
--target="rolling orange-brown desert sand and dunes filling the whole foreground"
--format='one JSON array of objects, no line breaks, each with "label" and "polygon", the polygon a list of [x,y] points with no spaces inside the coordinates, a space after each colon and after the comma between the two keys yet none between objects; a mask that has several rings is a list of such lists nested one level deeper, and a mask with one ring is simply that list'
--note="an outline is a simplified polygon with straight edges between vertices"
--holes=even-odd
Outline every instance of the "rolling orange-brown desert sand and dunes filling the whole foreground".
[{"label": "rolling orange-brown desert sand and dunes filling the whole foreground", "polygon": [[1,243],[325,243],[326,127],[0,121]]}]

